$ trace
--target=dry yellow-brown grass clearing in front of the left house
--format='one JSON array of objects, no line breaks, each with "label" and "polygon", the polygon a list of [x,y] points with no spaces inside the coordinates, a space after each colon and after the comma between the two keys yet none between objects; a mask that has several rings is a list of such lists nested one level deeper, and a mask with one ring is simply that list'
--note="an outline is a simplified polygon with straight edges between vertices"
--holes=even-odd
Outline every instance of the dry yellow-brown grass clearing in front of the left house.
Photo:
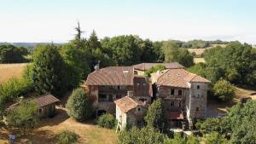
[{"label": "dry yellow-brown grass clearing in front of the left house", "polygon": [[[62,106],[65,106],[67,96],[61,100]],[[22,140],[28,140],[36,144],[55,143],[57,135],[62,130],[71,130],[79,135],[79,143],[85,144],[113,144],[117,141],[117,135],[114,130],[108,130],[96,126],[95,120],[79,123],[69,118],[67,109],[64,107],[56,107],[55,118],[44,118],[40,122],[38,128],[30,134],[18,137],[17,143]],[[0,133],[0,143],[8,141],[9,131],[3,130]]]}]

